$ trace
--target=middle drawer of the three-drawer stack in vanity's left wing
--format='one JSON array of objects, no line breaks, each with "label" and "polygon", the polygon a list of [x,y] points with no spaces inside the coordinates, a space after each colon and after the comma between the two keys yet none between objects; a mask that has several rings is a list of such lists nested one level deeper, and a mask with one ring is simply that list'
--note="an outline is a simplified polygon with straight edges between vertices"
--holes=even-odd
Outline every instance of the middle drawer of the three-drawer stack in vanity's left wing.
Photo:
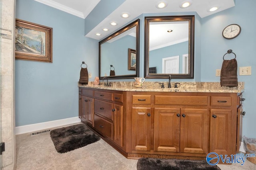
[{"label": "middle drawer of the three-drawer stack in vanity's left wing", "polygon": [[94,112],[113,120],[113,104],[101,100],[94,100]]}]

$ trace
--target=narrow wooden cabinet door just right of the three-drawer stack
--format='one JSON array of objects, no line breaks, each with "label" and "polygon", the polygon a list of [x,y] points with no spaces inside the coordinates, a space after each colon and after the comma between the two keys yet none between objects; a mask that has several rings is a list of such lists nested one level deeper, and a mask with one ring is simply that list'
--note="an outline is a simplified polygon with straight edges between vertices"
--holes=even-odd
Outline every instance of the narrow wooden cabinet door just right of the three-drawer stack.
[{"label": "narrow wooden cabinet door just right of the three-drawer stack", "polygon": [[123,147],[123,106],[114,104],[114,142]]}]

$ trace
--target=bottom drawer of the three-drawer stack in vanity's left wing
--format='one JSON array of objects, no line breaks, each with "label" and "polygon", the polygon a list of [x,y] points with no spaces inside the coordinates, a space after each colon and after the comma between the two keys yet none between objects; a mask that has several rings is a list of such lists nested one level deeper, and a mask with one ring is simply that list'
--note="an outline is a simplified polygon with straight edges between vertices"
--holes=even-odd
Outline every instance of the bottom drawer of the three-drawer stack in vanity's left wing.
[{"label": "bottom drawer of the three-drawer stack in vanity's left wing", "polygon": [[106,121],[98,115],[94,115],[94,128],[97,129],[102,135],[113,140],[113,123]]}]

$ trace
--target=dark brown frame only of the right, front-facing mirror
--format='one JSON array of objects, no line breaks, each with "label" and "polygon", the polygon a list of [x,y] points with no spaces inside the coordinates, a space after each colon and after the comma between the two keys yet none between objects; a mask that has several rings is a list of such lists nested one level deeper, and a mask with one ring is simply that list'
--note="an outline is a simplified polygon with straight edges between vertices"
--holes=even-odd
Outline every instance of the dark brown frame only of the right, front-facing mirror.
[{"label": "dark brown frame only of the right, front-facing mirror", "polygon": [[[149,74],[149,24],[150,22],[188,21],[188,74]],[[145,17],[144,76],[145,78],[194,78],[194,16],[152,16]]]}]

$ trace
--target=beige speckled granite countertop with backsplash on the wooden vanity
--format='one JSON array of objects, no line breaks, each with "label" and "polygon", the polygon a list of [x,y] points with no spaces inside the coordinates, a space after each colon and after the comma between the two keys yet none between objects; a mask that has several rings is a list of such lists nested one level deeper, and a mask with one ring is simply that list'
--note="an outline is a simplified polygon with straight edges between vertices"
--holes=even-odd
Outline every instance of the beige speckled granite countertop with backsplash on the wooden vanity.
[{"label": "beige speckled granite countertop with backsplash on the wooden vanity", "polygon": [[[161,88],[162,83],[164,87]],[[134,82],[112,82],[110,87],[94,86],[93,82],[88,85],[78,84],[78,87],[95,88],[105,90],[131,91],[131,92],[210,92],[210,93],[242,93],[244,92],[244,82],[238,82],[237,87],[220,86],[219,82],[171,82],[174,87],[175,83],[178,88],[167,88],[168,82],[144,82],[143,87],[134,87]]]}]

